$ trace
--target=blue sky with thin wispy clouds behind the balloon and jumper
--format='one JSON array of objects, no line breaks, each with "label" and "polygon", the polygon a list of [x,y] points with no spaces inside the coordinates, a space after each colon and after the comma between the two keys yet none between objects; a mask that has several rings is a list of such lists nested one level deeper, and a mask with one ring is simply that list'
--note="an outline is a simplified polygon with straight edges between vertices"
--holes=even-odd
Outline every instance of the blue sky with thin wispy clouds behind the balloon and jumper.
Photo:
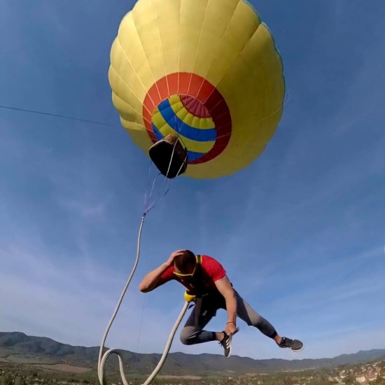
[{"label": "blue sky with thin wispy clouds behind the balloon and jumper", "polygon": [[[146,218],[108,346],[163,350],[183,288],[137,286],[190,248],[220,260],[281,335],[306,345],[279,349],[240,321],[234,354],[385,348],[385,3],[251,3],[283,57],[281,123],[247,169],[172,183]],[[0,3],[0,105],[111,125],[0,109],[0,330],[96,346],[130,273],[150,162],[120,127],[107,71],[132,4]],[[226,319],[219,311],[212,328]],[[221,353],[179,338],[172,351]]]}]

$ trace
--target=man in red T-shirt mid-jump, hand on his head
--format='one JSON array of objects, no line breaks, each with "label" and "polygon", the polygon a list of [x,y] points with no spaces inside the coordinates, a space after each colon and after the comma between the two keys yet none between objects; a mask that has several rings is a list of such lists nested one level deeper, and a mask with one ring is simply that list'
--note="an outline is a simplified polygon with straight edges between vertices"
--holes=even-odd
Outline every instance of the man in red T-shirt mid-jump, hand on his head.
[{"label": "man in red T-shirt mid-jump, hand on his head", "polygon": [[[221,263],[209,255],[195,255],[189,250],[177,250],[139,284],[142,293],[148,293],[175,279],[195,297],[195,307],[181,331],[181,342],[186,345],[218,341],[230,357],[232,335],[238,331],[237,316],[249,326],[274,339],[281,348],[293,351],[303,349],[299,339],[281,337],[269,321],[260,316],[238,293],[226,275]],[[218,309],[228,312],[228,322],[222,332],[203,330]]]}]

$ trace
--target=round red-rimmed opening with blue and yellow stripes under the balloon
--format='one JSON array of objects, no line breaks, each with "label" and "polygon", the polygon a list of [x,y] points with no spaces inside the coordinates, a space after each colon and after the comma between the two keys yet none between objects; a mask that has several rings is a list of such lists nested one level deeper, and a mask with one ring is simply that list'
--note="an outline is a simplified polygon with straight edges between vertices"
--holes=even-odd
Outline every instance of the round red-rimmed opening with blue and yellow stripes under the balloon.
[{"label": "round red-rimmed opening with blue and yellow stripes under the balloon", "polygon": [[[190,87],[194,84],[200,87]],[[157,80],[144,98],[143,118],[153,144],[177,135],[189,167],[217,158],[232,134],[230,109],[221,92],[195,73],[172,73]]]}]

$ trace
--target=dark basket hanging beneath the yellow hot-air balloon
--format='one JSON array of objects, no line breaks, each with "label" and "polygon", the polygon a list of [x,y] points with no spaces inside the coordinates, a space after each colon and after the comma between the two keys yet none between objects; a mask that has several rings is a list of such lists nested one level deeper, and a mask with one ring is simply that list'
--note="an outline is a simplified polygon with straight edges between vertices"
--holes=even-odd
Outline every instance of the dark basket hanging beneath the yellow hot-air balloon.
[{"label": "dark basket hanging beneath the yellow hot-air balloon", "polygon": [[157,141],[148,150],[151,160],[161,174],[174,179],[187,169],[187,150],[183,148],[178,135],[169,134]]}]

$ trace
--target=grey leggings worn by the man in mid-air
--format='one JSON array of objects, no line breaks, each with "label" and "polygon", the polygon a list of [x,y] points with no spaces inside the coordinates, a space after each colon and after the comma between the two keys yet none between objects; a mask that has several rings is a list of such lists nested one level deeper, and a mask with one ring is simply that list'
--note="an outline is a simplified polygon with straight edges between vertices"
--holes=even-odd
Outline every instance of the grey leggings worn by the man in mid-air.
[{"label": "grey leggings worn by the man in mid-air", "polygon": [[[255,326],[260,332],[267,337],[274,338],[276,331],[269,321],[260,316],[253,308],[235,291],[237,296],[237,316],[245,321],[249,326]],[[203,342],[214,341],[216,332],[203,330],[204,326],[209,323],[211,318],[216,315],[218,309],[225,309],[225,298],[222,295],[207,295],[202,300],[202,311],[198,320],[197,327],[195,326],[195,307],[191,311],[188,320],[186,321],[181,331],[181,342],[185,345],[202,344]]]}]

